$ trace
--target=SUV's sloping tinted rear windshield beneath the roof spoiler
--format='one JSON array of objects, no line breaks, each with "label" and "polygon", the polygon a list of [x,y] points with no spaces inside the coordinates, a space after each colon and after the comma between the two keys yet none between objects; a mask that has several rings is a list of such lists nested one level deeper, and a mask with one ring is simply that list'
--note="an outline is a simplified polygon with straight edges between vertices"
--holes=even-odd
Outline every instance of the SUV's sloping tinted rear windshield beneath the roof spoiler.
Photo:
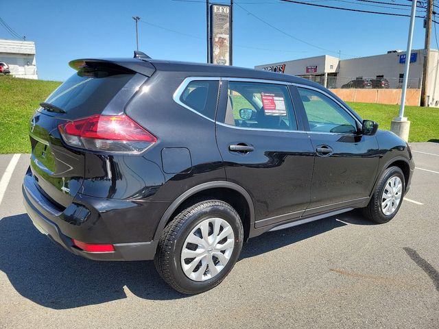
[{"label": "SUV's sloping tinted rear windshield beneath the roof spoiler", "polygon": [[80,69],[47,97],[45,103],[66,112],[102,112],[133,75],[116,69]]}]

